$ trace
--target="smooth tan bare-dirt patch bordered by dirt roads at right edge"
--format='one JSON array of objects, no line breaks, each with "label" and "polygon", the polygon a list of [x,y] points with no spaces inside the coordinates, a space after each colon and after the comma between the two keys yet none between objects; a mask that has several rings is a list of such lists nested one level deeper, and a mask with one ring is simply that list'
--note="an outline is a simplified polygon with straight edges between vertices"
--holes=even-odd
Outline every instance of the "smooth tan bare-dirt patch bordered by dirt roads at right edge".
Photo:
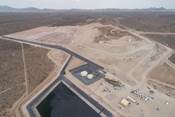
[{"label": "smooth tan bare-dirt patch bordered by dirt roads at right edge", "polygon": [[148,78],[175,86],[175,69],[164,63],[154,68]]}]

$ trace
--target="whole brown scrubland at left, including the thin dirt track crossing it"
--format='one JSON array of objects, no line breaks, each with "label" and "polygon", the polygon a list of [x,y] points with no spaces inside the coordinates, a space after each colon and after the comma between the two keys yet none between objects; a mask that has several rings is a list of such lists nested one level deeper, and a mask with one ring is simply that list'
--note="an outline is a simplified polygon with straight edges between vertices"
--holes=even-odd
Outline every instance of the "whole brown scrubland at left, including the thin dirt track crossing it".
[{"label": "whole brown scrubland at left, including the thin dirt track crossing it", "polygon": [[0,117],[11,117],[14,103],[39,86],[54,69],[48,49],[26,44],[24,51],[22,48],[21,43],[0,39]]}]

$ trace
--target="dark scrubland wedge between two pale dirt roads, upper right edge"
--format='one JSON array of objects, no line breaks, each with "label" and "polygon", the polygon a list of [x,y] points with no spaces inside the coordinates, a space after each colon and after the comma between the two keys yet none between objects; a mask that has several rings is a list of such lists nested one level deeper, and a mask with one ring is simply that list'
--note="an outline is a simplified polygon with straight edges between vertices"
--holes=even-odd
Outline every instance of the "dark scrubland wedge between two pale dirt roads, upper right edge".
[{"label": "dark scrubland wedge between two pale dirt roads, upper right edge", "polygon": [[157,41],[167,47],[170,47],[172,49],[175,49],[175,36],[174,35],[152,35],[152,34],[146,34],[144,35],[148,38],[150,38],[153,41]]}]

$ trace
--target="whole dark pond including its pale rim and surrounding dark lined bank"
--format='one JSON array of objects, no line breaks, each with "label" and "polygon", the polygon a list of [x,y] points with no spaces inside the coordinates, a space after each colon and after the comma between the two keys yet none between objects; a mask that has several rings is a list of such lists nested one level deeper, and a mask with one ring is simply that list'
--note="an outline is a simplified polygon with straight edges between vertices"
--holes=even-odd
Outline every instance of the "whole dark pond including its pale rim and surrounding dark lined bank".
[{"label": "whole dark pond including its pale rim and surrounding dark lined bank", "polygon": [[27,105],[31,117],[112,117],[67,78],[58,79]]}]

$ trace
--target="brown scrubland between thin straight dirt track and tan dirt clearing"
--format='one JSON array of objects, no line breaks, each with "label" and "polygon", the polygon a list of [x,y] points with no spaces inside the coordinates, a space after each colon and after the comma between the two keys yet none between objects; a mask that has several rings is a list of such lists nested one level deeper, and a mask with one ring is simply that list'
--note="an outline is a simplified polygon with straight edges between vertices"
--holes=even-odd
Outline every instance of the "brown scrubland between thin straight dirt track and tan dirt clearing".
[{"label": "brown scrubland between thin straight dirt track and tan dirt clearing", "polygon": [[54,63],[47,57],[48,52],[48,49],[24,44],[24,55],[30,92],[44,81],[54,69]]}]

